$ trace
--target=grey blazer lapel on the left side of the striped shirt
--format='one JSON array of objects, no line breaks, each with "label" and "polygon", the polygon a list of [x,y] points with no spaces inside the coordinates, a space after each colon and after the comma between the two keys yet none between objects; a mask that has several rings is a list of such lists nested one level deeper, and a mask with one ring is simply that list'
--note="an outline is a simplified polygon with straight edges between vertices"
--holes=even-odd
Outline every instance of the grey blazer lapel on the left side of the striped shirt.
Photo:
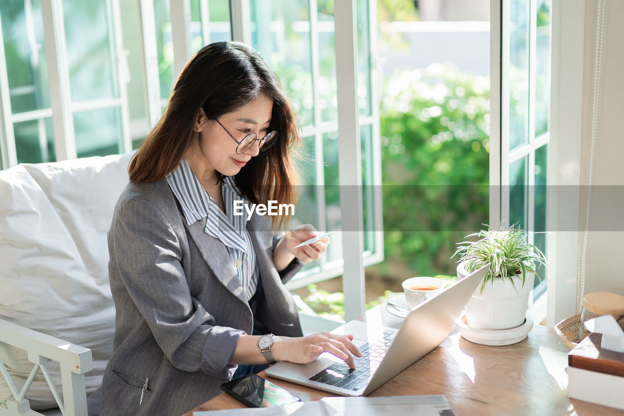
[{"label": "grey blazer lapel on the left side of the striped shirt", "polygon": [[247,300],[243,296],[243,286],[238,279],[238,273],[236,272],[236,266],[228,250],[225,248],[222,242],[212,235],[208,235],[204,232],[206,227],[206,220],[201,219],[188,225],[186,221],[183,221],[184,226],[188,230],[191,238],[197,245],[203,259],[210,267],[210,270],[215,274],[217,279],[245,304]]}]

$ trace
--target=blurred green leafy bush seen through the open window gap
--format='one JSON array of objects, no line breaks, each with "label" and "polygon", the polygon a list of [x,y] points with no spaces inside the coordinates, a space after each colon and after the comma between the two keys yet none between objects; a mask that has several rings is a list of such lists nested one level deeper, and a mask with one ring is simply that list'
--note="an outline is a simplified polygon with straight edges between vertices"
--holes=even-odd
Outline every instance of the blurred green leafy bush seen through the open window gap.
[{"label": "blurred green leafy bush seen through the open window gap", "polygon": [[434,64],[395,74],[384,91],[386,260],[376,267],[453,275],[455,242],[488,219],[489,79]]}]

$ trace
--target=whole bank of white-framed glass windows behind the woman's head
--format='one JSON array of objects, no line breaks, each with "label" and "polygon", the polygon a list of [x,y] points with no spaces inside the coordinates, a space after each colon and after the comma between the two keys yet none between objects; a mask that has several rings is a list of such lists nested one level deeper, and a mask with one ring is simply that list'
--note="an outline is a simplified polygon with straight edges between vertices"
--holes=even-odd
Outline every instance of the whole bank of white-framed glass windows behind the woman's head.
[{"label": "whole bank of white-framed glass windows behind the woman's head", "polygon": [[[371,30],[375,2],[358,0],[355,10],[350,2],[336,4],[347,19],[355,13],[355,39],[348,33],[336,36],[344,26],[343,21],[334,26],[331,0],[139,0],[138,7],[121,13],[122,4],[13,0],[3,5],[2,167],[136,149],[160,118],[175,77],[195,51],[213,41],[247,41],[275,69],[300,116],[303,152],[310,158],[296,214],[318,229],[343,231],[332,236],[331,250],[289,287],[346,272],[351,277],[344,284],[359,288],[347,294],[348,315],[363,312],[363,273],[345,271],[343,255],[361,245],[361,252],[351,254],[359,256],[355,264],[383,258],[381,201],[373,187],[381,182]],[[357,51],[353,71],[341,62],[343,56],[336,61],[340,48],[344,55]],[[356,99],[343,103],[339,84],[352,82],[355,73]],[[353,110],[352,116],[339,117],[339,107]],[[355,120],[353,126],[346,124],[349,119]],[[346,133],[340,133],[339,141],[341,131]],[[347,140],[350,153],[339,156],[338,148]],[[345,226],[344,212],[361,212],[363,225]]]}]

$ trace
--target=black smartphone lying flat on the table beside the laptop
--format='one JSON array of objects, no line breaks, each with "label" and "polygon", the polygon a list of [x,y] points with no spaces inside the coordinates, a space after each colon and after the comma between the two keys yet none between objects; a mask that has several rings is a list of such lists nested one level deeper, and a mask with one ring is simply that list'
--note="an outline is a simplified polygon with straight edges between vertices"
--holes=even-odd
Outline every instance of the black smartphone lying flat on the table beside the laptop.
[{"label": "black smartphone lying flat on the table beside the laptop", "polygon": [[288,390],[256,374],[225,382],[221,385],[221,389],[250,407],[271,407],[301,402],[299,397]]}]

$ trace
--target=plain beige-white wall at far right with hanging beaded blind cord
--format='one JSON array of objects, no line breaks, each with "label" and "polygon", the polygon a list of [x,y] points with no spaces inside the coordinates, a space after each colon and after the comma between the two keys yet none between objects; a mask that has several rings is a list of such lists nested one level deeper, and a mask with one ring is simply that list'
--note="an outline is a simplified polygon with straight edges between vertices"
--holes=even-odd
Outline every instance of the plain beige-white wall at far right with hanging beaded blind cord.
[{"label": "plain beige-white wall at far right with hanging beaded blind cord", "polygon": [[[615,292],[624,295],[624,1],[604,0],[604,31],[598,117],[593,151],[592,200],[585,252],[584,293]],[[598,0],[585,2],[583,112],[580,157],[579,229],[585,230],[587,186],[592,152],[592,120],[597,50]],[[579,295],[584,234],[578,242]]]}]

